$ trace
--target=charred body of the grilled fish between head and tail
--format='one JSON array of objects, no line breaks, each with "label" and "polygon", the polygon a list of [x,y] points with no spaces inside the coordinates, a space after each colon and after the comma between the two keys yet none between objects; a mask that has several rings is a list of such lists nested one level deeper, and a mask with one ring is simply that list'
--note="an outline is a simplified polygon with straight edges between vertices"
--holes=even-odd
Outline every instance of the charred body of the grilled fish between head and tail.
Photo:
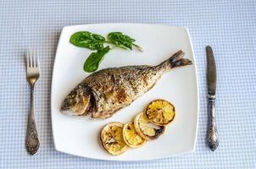
[{"label": "charred body of the grilled fish between head and tail", "polygon": [[160,76],[156,68],[150,66],[111,68],[101,74],[92,74],[84,81],[97,95],[92,117],[111,117],[150,90]]}]

